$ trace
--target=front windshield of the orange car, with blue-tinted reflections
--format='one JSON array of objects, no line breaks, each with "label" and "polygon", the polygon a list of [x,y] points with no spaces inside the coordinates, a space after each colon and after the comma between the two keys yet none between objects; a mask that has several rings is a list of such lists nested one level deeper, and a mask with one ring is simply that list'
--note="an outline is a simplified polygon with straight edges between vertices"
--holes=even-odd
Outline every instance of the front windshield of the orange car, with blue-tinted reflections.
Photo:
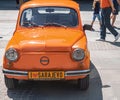
[{"label": "front windshield of the orange car, with blue-tinted reflections", "polygon": [[66,7],[36,7],[25,9],[21,17],[21,26],[75,27],[78,16],[74,9]]}]

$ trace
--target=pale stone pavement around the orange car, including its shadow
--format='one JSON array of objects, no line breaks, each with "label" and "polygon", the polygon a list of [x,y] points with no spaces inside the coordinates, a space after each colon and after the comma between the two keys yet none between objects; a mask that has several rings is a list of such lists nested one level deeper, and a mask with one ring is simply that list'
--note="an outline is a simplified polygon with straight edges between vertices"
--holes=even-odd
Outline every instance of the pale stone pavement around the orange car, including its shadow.
[{"label": "pale stone pavement around the orange car, including its shadow", "polygon": [[[14,32],[18,10],[14,0],[6,1],[0,1],[0,100],[120,100],[120,39],[113,43],[113,35],[107,34],[106,42],[96,41],[99,38],[97,21],[94,24],[95,31],[86,31],[92,68],[87,91],[77,90],[74,82],[26,81],[21,82],[18,89],[7,90],[2,74],[2,57]],[[91,2],[80,3],[83,24],[89,24],[92,19]],[[120,33],[118,18],[115,25]]]}]

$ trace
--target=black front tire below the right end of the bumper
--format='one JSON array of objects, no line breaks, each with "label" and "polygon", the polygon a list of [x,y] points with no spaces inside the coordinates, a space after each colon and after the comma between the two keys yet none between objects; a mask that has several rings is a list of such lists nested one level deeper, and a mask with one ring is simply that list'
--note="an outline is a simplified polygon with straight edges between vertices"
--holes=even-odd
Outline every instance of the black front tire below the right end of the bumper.
[{"label": "black front tire below the right end of the bumper", "polygon": [[89,87],[89,75],[83,79],[78,80],[78,87],[80,90],[87,90]]}]

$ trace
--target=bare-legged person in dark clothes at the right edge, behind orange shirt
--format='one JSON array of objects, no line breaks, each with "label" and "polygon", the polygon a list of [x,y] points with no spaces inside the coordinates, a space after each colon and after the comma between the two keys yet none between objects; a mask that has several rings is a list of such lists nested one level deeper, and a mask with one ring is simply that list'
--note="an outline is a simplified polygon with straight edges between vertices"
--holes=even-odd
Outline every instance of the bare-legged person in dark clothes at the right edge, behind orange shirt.
[{"label": "bare-legged person in dark clothes at the right edge, behind orange shirt", "polygon": [[111,16],[112,26],[114,26],[114,23],[116,21],[116,16],[118,15],[119,12],[120,0],[113,0],[113,4],[115,7],[115,12],[113,12]]}]

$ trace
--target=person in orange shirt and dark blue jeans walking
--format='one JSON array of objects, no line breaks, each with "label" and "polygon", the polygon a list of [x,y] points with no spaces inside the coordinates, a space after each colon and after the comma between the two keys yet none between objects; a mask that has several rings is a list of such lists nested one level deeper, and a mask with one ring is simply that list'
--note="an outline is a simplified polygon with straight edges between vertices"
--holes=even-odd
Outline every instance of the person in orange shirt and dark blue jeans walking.
[{"label": "person in orange shirt and dark blue jeans walking", "polygon": [[114,35],[114,42],[116,42],[119,39],[120,34],[112,27],[110,23],[110,14],[111,12],[115,12],[113,2],[112,0],[100,0],[100,7],[102,23],[99,41],[105,41],[107,28]]}]

